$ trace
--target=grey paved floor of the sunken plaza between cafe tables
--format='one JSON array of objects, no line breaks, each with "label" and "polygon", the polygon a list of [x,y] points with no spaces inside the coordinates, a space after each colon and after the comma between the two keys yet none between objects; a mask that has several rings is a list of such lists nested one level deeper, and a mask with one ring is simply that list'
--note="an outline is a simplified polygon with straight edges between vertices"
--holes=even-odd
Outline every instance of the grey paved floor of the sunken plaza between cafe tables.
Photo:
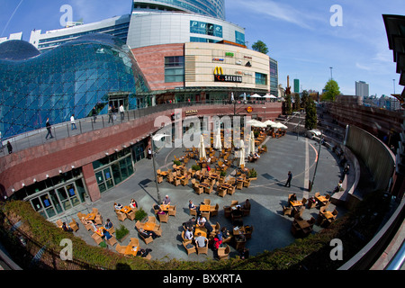
[{"label": "grey paved floor of the sunken plaza between cafe tables", "polygon": [[[199,204],[204,199],[211,199],[211,205],[216,203],[220,206],[218,216],[210,219],[211,224],[220,223],[220,227],[232,229],[229,219],[224,217],[223,206],[229,205],[232,200],[245,202],[249,199],[251,202],[250,215],[244,217],[244,225],[254,227],[252,238],[247,240],[246,247],[251,256],[255,256],[264,250],[271,251],[275,248],[286,247],[293,243],[293,235],[290,231],[293,218],[283,215],[283,206],[287,204],[289,193],[296,193],[297,199],[302,197],[309,198],[315,192],[320,194],[332,193],[334,187],[338,184],[341,177],[341,168],[338,166],[338,158],[329,148],[319,146],[315,140],[297,137],[296,134],[287,132],[279,139],[267,138],[263,144],[266,144],[268,151],[261,155],[256,163],[246,163],[248,168],[257,170],[257,180],[253,181],[249,187],[242,190],[236,190],[233,195],[220,197],[217,193],[196,194],[192,185],[169,184],[166,179],[158,184],[158,190],[161,199],[169,195],[172,205],[176,205],[176,215],[170,216],[167,223],[161,223],[162,237],[156,238],[152,243],[146,245],[139,239],[140,247],[152,249],[152,259],[170,260],[172,258],[204,261],[213,258],[213,253],[209,249],[207,256],[187,253],[182,246],[181,232],[182,223],[189,220],[191,216],[188,211],[188,202],[193,200],[194,204]],[[320,150],[319,150],[320,149]],[[185,148],[162,148],[156,156],[157,169],[166,170],[173,165],[174,156],[184,155]],[[320,151],[320,153],[319,153]],[[317,167],[316,176],[314,171],[316,167],[316,158],[319,153],[320,162]],[[218,154],[218,152],[217,152]],[[234,162],[237,165],[238,161]],[[190,160],[187,166],[195,164],[195,160]],[[230,166],[227,176],[235,173],[236,166]],[[288,171],[292,171],[293,180],[291,187],[285,187]],[[309,192],[309,180],[313,180],[313,187]],[[88,212],[93,207],[97,208],[105,221],[107,218],[117,228],[120,224],[130,230],[130,237],[126,238],[121,245],[128,245],[130,238],[139,238],[135,227],[135,221],[117,219],[113,203],[118,202],[122,205],[128,205],[130,199],[135,199],[139,207],[142,207],[149,216],[154,215],[153,204],[157,202],[157,187],[153,174],[153,161],[147,158],[135,164],[135,173],[127,181],[115,186],[111,190],[102,194],[102,198],[90,205],[82,204],[76,207],[76,211]],[[330,211],[335,206],[329,205]],[[345,213],[344,208],[336,207],[339,211],[338,217]],[[302,218],[309,220],[311,217],[317,218],[318,208],[306,209]],[[76,213],[72,215],[75,219]],[[77,219],[76,219],[77,220]],[[158,222],[158,220],[157,220]],[[320,227],[314,226],[314,233],[320,231]],[[91,232],[80,225],[80,229],[75,233],[76,236],[85,239],[90,245],[95,245],[91,238]],[[115,251],[115,247],[108,247]],[[231,247],[230,257],[238,255],[238,252]]]}]

